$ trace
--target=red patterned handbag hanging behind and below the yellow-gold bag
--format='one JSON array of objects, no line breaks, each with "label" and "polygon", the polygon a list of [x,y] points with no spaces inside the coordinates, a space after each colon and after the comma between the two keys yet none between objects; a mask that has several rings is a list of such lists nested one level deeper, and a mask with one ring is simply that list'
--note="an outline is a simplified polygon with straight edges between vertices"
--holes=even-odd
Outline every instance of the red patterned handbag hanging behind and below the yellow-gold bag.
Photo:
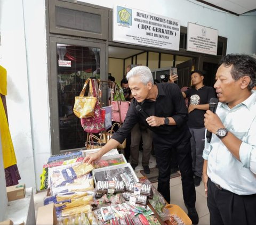
[{"label": "red patterned handbag hanging behind and below the yellow-gold bag", "polygon": [[92,79],[92,92],[94,97],[97,97],[97,102],[94,107],[93,116],[89,118],[82,118],[81,125],[84,131],[88,133],[99,133],[105,130],[105,114],[106,111],[101,109],[100,102],[100,89],[98,87],[98,81]]}]

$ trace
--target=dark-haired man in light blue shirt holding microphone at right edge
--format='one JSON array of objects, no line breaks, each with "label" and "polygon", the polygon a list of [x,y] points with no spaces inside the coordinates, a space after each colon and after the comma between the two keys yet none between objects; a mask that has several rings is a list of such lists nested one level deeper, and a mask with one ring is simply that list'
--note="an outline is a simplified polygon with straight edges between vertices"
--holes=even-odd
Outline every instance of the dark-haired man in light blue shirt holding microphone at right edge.
[{"label": "dark-haired man in light blue shirt holding microphone at right edge", "polygon": [[210,224],[256,224],[256,59],[224,56],[215,80],[217,111],[204,115],[212,132],[203,152]]}]

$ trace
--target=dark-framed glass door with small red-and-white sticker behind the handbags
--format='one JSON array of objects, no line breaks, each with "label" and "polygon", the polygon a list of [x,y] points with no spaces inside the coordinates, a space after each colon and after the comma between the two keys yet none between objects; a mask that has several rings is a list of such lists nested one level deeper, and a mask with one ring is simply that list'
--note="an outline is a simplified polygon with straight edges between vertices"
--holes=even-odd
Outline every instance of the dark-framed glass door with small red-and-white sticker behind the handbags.
[{"label": "dark-framed glass door with small red-and-white sticker behind the handbags", "polygon": [[59,154],[85,147],[87,133],[73,113],[75,96],[87,78],[107,80],[106,44],[57,37],[50,37],[50,43],[52,154]]}]

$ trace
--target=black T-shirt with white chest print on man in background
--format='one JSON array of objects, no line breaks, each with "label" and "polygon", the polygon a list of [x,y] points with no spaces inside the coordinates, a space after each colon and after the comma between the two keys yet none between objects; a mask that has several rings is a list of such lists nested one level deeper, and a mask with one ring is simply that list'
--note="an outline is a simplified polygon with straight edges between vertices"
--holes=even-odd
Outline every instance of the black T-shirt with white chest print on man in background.
[{"label": "black T-shirt with white chest print on man in background", "polygon": [[[184,91],[189,98],[189,105],[203,105],[208,104],[211,98],[215,98],[215,89],[209,86],[203,86],[198,90],[196,88],[190,88]],[[204,127],[204,114],[206,110],[193,110],[188,114],[188,127],[190,128],[203,128]]]}]

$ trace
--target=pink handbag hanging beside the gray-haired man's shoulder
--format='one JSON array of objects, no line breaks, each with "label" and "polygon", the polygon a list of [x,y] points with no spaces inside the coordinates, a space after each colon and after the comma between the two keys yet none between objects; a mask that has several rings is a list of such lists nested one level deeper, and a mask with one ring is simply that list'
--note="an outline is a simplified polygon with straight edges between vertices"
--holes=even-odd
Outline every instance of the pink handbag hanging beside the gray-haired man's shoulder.
[{"label": "pink handbag hanging beside the gray-haired man's shoulder", "polygon": [[[122,101],[124,99],[124,93],[121,91],[120,86],[116,86],[116,83],[113,82],[114,85],[114,97],[111,96],[111,106],[112,106],[112,120],[115,122],[123,123],[127,114],[127,111],[130,106],[130,102]],[[111,93],[111,95],[113,95]],[[116,100],[113,99],[116,96]]]}]

